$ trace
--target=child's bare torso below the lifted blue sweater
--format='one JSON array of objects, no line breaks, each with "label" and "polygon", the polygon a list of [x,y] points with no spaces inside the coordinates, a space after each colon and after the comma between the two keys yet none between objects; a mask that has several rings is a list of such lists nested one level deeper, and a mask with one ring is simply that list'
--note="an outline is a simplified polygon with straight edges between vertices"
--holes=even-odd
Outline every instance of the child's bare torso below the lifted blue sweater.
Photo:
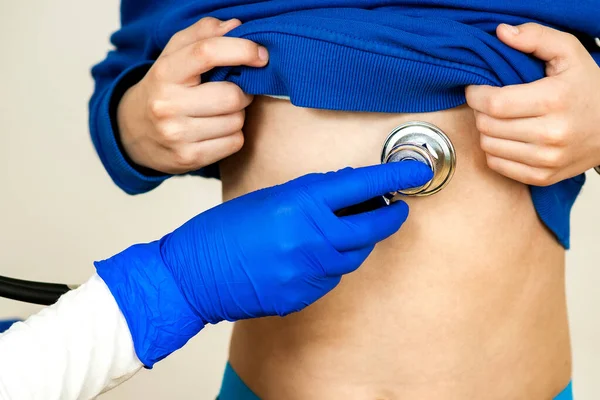
[{"label": "child's bare torso below the lifted blue sweater", "polygon": [[564,250],[528,188],[490,170],[473,111],[342,113],[255,98],[224,200],[314,171],[379,162],[395,126],[453,141],[451,184],[330,294],[285,318],[238,322],[230,362],[262,399],[550,400],[571,373]]}]

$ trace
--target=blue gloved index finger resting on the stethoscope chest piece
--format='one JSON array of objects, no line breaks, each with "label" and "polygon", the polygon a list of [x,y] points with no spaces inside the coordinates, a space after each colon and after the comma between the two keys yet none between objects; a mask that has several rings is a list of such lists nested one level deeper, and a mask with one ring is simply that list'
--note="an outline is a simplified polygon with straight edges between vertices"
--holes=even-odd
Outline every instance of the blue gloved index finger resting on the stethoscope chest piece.
[{"label": "blue gloved index finger resting on the stethoscope chest piece", "polygon": [[432,177],[431,168],[410,160],[331,172],[312,189],[315,197],[337,211],[389,192],[422,186]]}]

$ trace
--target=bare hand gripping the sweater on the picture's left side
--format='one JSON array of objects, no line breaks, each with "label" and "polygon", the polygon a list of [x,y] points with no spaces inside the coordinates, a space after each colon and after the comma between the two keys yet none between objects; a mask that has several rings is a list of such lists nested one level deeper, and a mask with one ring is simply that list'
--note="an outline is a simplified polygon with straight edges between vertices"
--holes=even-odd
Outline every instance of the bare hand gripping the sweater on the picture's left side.
[{"label": "bare hand gripping the sweater on the picture's left side", "polygon": [[220,66],[264,67],[267,50],[223,37],[241,25],[207,17],[171,38],[146,76],[117,109],[121,143],[136,164],[182,174],[241,149],[244,109],[252,96],[231,82],[200,82]]}]

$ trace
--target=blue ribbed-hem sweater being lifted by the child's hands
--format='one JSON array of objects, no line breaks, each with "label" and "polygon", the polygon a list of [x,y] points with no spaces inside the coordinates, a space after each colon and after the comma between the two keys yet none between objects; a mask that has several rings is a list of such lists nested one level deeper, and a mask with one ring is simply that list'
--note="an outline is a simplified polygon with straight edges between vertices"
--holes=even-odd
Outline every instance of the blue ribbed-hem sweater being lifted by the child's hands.
[{"label": "blue ribbed-hem sweater being lifted by the child's hands", "polygon": [[[470,84],[511,85],[544,76],[538,60],[501,43],[501,23],[534,21],[576,34],[600,62],[600,0],[122,0],[115,50],[92,70],[90,129],[96,150],[124,191],[149,191],[168,175],[133,165],[118,141],[115,109],[170,37],[205,16],[239,18],[229,36],[269,49],[267,67],[228,67],[251,94],[289,96],[297,106],[388,113],[429,112],[465,103]],[[215,166],[195,172],[218,176]],[[585,176],[531,187],[538,215],[569,246],[571,207]]]}]

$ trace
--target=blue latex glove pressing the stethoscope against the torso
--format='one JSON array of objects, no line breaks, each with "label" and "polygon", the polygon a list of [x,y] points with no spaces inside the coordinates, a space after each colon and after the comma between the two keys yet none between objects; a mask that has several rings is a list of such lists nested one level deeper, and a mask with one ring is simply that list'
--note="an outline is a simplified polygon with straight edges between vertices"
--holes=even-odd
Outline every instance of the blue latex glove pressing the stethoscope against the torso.
[{"label": "blue latex glove pressing the stethoscope against the torso", "polygon": [[334,212],[431,177],[416,161],[306,175],[221,204],[96,268],[151,367],[207,323],[283,316],[321,298],[400,228],[408,206]]}]

